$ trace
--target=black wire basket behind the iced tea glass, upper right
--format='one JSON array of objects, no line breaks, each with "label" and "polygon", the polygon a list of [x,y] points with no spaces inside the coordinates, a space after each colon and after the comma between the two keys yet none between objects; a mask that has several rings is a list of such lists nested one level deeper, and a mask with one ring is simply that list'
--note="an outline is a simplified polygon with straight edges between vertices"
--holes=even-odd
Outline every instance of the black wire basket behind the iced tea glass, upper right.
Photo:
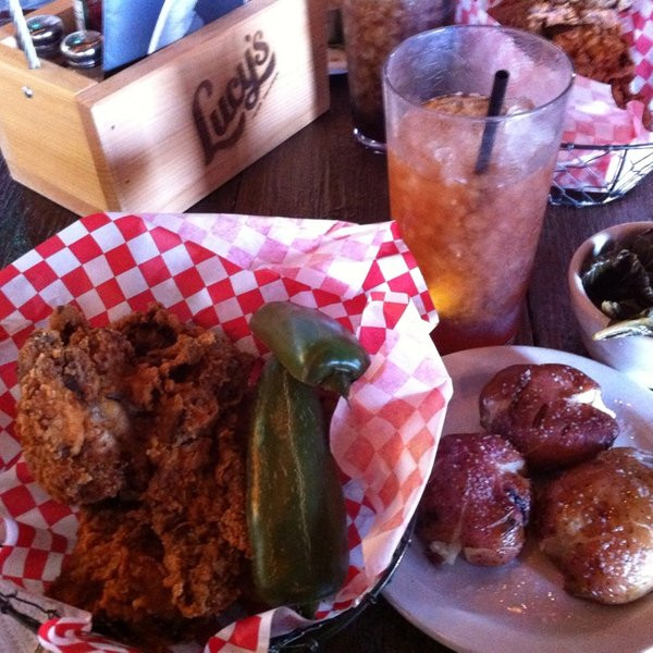
[{"label": "black wire basket behind the iced tea glass, upper right", "polygon": [[653,171],[653,143],[578,145],[564,143],[549,202],[595,207],[624,197]]}]

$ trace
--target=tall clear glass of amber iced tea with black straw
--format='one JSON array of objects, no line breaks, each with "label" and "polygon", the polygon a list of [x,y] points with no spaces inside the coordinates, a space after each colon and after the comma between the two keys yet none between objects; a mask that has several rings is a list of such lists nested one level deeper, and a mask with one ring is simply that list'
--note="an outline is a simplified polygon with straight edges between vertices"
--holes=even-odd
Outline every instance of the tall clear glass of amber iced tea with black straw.
[{"label": "tall clear glass of amber iced tea with black straw", "polygon": [[[488,116],[497,71],[507,87]],[[562,49],[504,27],[424,32],[387,58],[391,217],[429,286],[441,354],[515,336],[572,83]]]}]

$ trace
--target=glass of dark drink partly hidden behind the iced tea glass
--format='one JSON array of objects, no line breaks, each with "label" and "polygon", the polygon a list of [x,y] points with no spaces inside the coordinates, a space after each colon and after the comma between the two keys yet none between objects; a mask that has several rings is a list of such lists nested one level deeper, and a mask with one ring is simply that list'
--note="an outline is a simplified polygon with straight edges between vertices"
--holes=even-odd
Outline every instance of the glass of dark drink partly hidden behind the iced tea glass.
[{"label": "glass of dark drink partly hidden behind the iced tea glass", "polygon": [[408,36],[451,22],[454,0],[343,0],[341,12],[354,135],[384,151],[385,59]]}]

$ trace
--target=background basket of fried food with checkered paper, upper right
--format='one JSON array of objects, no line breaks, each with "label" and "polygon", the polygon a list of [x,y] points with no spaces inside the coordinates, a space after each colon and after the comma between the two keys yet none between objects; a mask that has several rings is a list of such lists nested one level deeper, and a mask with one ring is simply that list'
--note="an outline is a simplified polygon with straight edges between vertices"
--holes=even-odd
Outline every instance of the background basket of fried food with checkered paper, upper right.
[{"label": "background basket of fried food with checkered paper, upper right", "polygon": [[550,38],[577,79],[550,201],[592,206],[653,170],[653,2],[461,0],[457,23],[500,23]]}]

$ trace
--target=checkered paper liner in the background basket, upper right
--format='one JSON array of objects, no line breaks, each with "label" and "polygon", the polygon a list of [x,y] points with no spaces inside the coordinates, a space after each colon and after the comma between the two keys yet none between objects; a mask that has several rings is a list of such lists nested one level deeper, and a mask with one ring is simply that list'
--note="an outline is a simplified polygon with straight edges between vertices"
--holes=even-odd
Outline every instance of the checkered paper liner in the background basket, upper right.
[{"label": "checkered paper liner in the background basket, upper right", "polygon": [[[455,22],[494,24],[488,10],[501,0],[459,0]],[[653,0],[632,0],[632,8],[620,15],[625,38],[636,64],[633,93],[641,93],[653,111]],[[615,151],[560,150],[554,183],[560,188],[587,193],[619,192],[632,188],[653,170],[653,132],[642,124],[644,106],[633,100],[626,109],[615,103],[608,84],[576,77],[567,107],[563,143],[583,146],[637,145]]]}]

